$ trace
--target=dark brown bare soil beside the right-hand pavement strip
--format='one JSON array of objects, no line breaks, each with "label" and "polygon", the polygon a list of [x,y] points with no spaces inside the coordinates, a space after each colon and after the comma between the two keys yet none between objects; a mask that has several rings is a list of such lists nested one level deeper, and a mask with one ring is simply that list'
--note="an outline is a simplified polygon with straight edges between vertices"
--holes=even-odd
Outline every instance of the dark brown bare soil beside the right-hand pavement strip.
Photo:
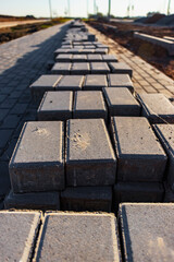
[{"label": "dark brown bare soil beside the right-hand pavement strip", "polygon": [[134,38],[135,31],[158,37],[174,37],[174,28],[139,26],[133,23],[112,22],[108,24],[117,27],[117,32],[112,32],[108,31],[107,26],[101,22],[92,21],[88,23],[174,80],[174,57],[169,56],[167,51],[162,47]]}]

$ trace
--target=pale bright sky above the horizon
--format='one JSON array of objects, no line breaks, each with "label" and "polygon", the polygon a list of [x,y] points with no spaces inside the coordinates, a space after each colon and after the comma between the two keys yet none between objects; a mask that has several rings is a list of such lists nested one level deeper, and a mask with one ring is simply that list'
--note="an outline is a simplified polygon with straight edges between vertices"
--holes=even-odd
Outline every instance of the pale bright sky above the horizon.
[{"label": "pale bright sky above the horizon", "polygon": [[[25,16],[33,14],[36,17],[48,17],[49,1],[53,16],[70,15],[86,17],[87,13],[94,13],[94,2],[98,7],[98,12],[108,13],[109,0],[0,0],[0,14]],[[115,16],[126,16],[127,7],[134,5],[130,15],[146,15],[148,12],[158,11],[166,14],[169,0],[111,0],[111,14]],[[174,13],[174,0],[171,0],[171,13]]]}]

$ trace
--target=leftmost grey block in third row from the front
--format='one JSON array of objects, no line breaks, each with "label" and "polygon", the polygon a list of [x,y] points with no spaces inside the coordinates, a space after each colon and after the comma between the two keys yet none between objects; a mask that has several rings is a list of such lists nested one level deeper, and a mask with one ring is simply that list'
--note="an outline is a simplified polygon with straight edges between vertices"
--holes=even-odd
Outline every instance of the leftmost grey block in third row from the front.
[{"label": "leftmost grey block in third row from the front", "polygon": [[47,92],[37,110],[39,121],[64,121],[73,118],[73,92]]}]

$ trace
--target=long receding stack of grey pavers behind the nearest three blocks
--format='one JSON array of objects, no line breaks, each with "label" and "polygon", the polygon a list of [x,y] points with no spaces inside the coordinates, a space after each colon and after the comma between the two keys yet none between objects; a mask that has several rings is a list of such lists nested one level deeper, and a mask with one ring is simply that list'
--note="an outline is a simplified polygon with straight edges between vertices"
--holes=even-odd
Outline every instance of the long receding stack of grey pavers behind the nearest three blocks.
[{"label": "long receding stack of grey pavers behind the nearest three blocks", "polygon": [[39,121],[25,123],[11,158],[7,207],[110,212],[162,202],[165,180],[174,190],[173,126],[166,134],[158,124],[174,122],[174,107],[162,95],[135,97],[132,69],[107,52],[75,22],[50,74],[32,84]]}]

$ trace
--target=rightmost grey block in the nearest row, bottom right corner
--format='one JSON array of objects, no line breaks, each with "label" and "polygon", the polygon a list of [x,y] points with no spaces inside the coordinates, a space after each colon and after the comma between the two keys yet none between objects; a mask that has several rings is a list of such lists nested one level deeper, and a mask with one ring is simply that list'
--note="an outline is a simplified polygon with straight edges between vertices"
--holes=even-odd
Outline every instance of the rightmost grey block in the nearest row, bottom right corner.
[{"label": "rightmost grey block in the nearest row, bottom right corner", "polygon": [[119,213],[124,261],[173,261],[174,204],[122,204]]}]

